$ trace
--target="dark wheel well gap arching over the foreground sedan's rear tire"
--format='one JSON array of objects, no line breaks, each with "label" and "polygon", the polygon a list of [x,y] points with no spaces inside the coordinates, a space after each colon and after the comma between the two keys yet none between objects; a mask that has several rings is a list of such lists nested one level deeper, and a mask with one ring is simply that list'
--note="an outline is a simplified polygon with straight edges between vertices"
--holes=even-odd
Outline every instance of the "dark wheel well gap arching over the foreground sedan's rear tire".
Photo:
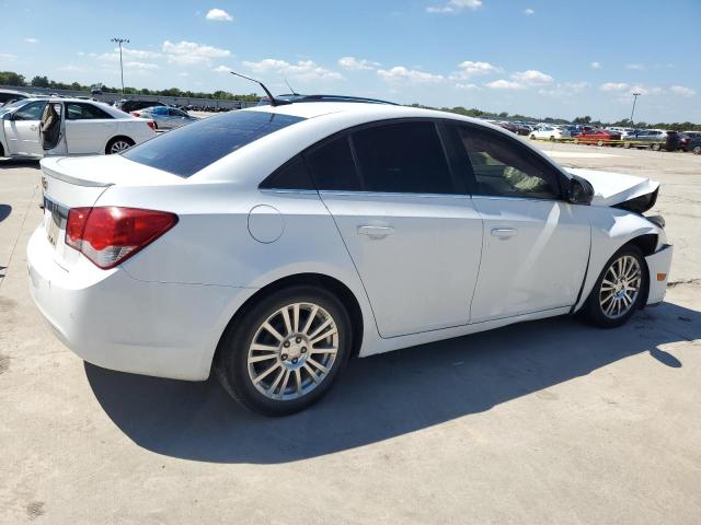
[{"label": "dark wheel well gap arching over the foreground sedan's rear tire", "polygon": [[[245,303],[241,305],[241,307],[233,314],[233,317],[227,325],[225,329],[225,334],[230,329],[233,325],[238,323],[240,318],[242,318],[246,312],[253,307],[263,296],[276,292],[277,290],[281,290],[284,288],[288,288],[295,284],[311,284],[314,287],[322,288],[335,294],[343,305],[348,310],[348,316],[350,317],[350,329],[353,330],[353,348],[350,349],[350,355],[355,357],[360,351],[360,343],[363,342],[363,312],[360,311],[360,305],[358,304],[357,299],[354,293],[346,287],[343,282],[333,277],[324,276],[321,273],[297,273],[295,276],[284,277],[283,279],[278,279],[277,281],[271,282],[265,287],[261,288],[257,292],[251,295]],[[221,335],[223,338],[223,334]],[[217,354],[219,353],[219,345],[217,345],[217,350],[215,351],[215,355],[212,362],[216,361]]]}]

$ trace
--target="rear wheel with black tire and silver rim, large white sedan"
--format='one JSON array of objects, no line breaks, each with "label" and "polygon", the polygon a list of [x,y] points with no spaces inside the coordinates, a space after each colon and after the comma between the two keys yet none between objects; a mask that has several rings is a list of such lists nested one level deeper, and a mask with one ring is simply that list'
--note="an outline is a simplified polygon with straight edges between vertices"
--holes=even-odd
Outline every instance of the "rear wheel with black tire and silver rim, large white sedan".
[{"label": "rear wheel with black tire and silver rim, large white sedan", "polygon": [[[297,330],[295,305],[299,307]],[[322,327],[326,323],[331,324]],[[329,336],[314,342],[317,330]],[[262,299],[227,328],[215,371],[223,388],[249,410],[287,416],[329,392],[348,361],[352,343],[350,317],[343,303],[326,290],[298,284]],[[323,347],[312,350],[314,345]]]}]

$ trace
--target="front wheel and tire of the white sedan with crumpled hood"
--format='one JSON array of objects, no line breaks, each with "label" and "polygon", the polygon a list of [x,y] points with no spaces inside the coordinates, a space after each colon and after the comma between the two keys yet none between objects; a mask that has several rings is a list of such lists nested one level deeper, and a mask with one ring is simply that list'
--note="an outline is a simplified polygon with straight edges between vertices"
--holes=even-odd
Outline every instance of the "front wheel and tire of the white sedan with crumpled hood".
[{"label": "front wheel and tire of the white sedan with crumpled hood", "polygon": [[[620,288],[622,284],[614,276],[621,272],[625,285],[634,287],[635,292]],[[625,276],[630,277],[625,279]],[[640,248],[632,244],[623,246],[604,266],[582,313],[589,323],[600,328],[624,325],[640,308],[648,279],[647,266]]]}]

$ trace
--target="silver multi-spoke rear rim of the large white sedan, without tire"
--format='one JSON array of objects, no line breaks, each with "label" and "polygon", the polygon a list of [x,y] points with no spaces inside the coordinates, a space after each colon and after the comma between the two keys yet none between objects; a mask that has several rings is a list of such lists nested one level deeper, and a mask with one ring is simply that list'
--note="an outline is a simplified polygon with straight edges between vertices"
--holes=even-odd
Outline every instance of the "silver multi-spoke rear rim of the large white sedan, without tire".
[{"label": "silver multi-spoke rear rim of the large white sedan, without tire", "polygon": [[294,303],[255,331],[248,352],[249,378],[268,399],[291,400],[315,389],[338,352],[335,319],[313,303]]}]

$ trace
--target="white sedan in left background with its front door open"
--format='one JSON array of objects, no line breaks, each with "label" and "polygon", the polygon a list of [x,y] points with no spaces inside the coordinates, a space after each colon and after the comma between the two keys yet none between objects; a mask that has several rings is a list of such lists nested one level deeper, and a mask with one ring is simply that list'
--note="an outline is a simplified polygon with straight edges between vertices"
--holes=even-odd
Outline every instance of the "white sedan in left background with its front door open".
[{"label": "white sedan in left background with its front door open", "polygon": [[0,118],[0,156],[118,153],[156,137],[152,120],[83,98],[24,98]]}]

